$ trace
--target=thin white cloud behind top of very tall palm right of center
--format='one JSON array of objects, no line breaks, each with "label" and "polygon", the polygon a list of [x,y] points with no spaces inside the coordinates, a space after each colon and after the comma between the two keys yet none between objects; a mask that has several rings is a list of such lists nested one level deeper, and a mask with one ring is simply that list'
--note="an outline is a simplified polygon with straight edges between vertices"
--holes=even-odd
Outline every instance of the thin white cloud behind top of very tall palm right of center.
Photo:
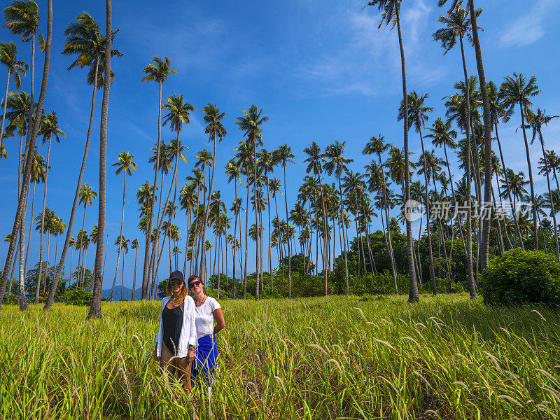
[{"label": "thin white cloud behind top of very tall palm right of center", "polygon": [[[318,83],[321,86],[318,94],[323,96],[357,93],[370,97],[393,89],[396,83],[400,83],[396,29],[385,26],[379,29],[381,15],[371,13],[372,8],[346,10],[336,13],[338,25],[332,31],[339,33],[340,39],[338,45],[333,45],[333,52],[308,59],[297,68],[297,76]],[[402,8],[405,55],[409,63],[414,64],[409,64],[409,73],[415,82],[424,86],[436,83],[445,73],[428,66],[418,53],[430,10],[423,0],[416,1],[412,7]],[[418,71],[415,66],[430,71]]]}]

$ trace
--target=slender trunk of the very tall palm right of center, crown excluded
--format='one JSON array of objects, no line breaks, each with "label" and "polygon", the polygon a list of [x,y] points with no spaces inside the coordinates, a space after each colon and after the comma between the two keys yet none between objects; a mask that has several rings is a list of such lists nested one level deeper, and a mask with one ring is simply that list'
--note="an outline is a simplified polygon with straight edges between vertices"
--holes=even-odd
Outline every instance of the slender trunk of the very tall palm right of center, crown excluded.
[{"label": "slender trunk of the very tall palm right of center, crown excluded", "polygon": [[[405,202],[410,198],[410,163],[408,155],[408,102],[407,102],[407,76],[405,66],[405,49],[402,46],[402,34],[400,32],[400,12],[399,8],[395,8],[395,17],[397,19],[398,44],[400,48],[400,66],[402,73],[402,101],[404,107],[404,142],[405,142]],[[414,269],[414,249],[412,244],[412,225],[410,221],[406,221],[407,226],[407,260],[409,275],[409,302],[418,302],[420,296],[418,294],[418,285],[416,284],[416,271]]]}]

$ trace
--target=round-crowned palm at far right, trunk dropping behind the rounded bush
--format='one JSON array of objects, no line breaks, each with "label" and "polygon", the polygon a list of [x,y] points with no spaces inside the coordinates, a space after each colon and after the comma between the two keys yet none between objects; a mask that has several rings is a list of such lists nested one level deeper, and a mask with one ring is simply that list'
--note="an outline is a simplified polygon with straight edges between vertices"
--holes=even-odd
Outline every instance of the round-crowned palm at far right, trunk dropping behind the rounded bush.
[{"label": "round-crowned palm at far right, trunk dropping behind the rounded bush", "polygon": [[527,81],[523,73],[513,73],[512,76],[505,77],[504,82],[500,88],[500,94],[503,97],[503,106],[507,109],[507,115],[511,116],[514,112],[514,107],[519,104],[519,114],[521,116],[521,130],[523,131],[523,139],[525,141],[525,153],[527,156],[527,166],[529,171],[529,183],[531,184],[531,203],[533,204],[533,240],[535,242],[535,249],[538,249],[537,237],[537,213],[535,209],[535,186],[533,183],[533,169],[531,167],[531,156],[529,154],[529,145],[527,141],[527,134],[525,131],[525,116],[527,115],[528,106],[531,106],[531,97],[540,93],[537,85],[537,78],[532,76]]}]

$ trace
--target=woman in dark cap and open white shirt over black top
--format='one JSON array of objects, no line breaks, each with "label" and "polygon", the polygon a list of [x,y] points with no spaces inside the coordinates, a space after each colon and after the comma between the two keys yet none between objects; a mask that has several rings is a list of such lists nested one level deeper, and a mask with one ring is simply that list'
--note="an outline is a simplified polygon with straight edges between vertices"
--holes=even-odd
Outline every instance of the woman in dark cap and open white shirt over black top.
[{"label": "woman in dark cap and open white shirt over black top", "polygon": [[180,271],[172,272],[167,281],[167,297],[162,300],[160,328],[155,337],[154,358],[162,370],[181,381],[187,391],[190,383],[191,363],[195,360],[195,301]]}]

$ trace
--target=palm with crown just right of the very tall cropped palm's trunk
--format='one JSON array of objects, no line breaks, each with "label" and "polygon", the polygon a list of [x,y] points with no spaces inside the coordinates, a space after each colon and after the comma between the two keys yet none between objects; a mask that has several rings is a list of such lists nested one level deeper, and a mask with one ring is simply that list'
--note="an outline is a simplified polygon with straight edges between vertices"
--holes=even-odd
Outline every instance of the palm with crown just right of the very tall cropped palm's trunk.
[{"label": "palm with crown just right of the very tall cropped palm's trunk", "polygon": [[[424,205],[426,206],[426,226],[429,227],[430,225],[430,201],[428,199],[428,172],[426,170],[426,159],[425,159],[425,149],[424,149],[424,141],[422,137],[422,127],[425,126],[426,121],[428,120],[428,112],[432,112],[433,108],[430,106],[424,106],[424,102],[428,99],[428,94],[423,94],[419,96],[415,90],[410,92],[407,98],[408,102],[408,122],[409,127],[414,125],[414,130],[420,135],[420,144],[422,146],[422,158],[421,162],[417,163],[416,165],[422,164],[423,173],[424,173],[424,186],[425,186],[425,193],[424,193]],[[405,106],[404,101],[400,102],[400,108],[398,113],[398,120],[402,120],[404,118]],[[430,255],[430,279],[432,281],[432,290],[433,295],[437,295],[437,286],[435,283],[435,271],[433,266],[433,250],[432,250],[432,239],[430,235],[430,229],[426,230],[428,234],[428,252]]]}]

